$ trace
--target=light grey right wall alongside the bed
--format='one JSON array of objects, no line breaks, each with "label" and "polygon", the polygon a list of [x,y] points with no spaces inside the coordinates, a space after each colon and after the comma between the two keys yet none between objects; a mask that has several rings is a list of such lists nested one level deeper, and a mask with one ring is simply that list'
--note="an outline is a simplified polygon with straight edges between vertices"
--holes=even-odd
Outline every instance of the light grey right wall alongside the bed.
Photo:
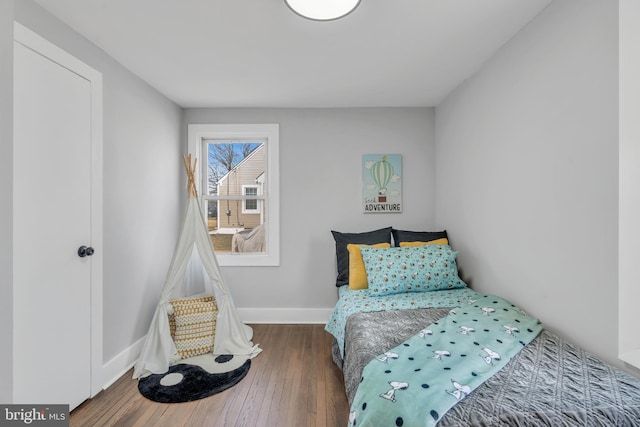
[{"label": "light grey right wall alongside the bed", "polygon": [[436,109],[464,278],[617,361],[618,6],[552,2]]}]

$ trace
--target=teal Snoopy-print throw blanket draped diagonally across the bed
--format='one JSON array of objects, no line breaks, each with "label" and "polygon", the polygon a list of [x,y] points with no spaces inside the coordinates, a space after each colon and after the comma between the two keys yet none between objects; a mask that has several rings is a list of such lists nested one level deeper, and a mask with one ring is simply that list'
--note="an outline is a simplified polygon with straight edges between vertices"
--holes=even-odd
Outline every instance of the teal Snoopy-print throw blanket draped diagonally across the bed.
[{"label": "teal Snoopy-print throw blanket draped diagonally across the bed", "polygon": [[474,294],[366,365],[351,425],[433,426],[542,331],[510,302]]}]

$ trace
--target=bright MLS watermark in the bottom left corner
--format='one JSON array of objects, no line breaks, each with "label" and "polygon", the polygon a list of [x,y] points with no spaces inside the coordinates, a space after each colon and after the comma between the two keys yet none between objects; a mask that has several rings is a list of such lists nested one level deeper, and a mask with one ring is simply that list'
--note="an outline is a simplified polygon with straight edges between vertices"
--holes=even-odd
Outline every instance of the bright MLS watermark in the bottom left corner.
[{"label": "bright MLS watermark in the bottom left corner", "polygon": [[69,427],[69,405],[0,405],[0,427]]}]

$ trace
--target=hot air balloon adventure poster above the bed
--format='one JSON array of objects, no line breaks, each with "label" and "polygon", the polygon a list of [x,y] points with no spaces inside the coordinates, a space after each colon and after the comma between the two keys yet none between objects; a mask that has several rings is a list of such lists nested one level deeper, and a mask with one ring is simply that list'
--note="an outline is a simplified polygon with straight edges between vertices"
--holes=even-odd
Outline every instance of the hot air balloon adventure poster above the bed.
[{"label": "hot air balloon adventure poster above the bed", "polygon": [[365,213],[402,212],[402,155],[362,156],[362,210]]}]

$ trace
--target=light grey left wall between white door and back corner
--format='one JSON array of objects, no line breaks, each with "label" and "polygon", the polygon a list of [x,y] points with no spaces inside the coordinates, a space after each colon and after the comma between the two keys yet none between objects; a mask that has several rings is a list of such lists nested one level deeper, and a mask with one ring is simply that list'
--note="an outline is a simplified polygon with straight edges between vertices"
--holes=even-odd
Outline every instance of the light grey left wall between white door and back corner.
[{"label": "light grey left wall between white door and back corner", "polygon": [[146,334],[171,260],[181,214],[182,109],[33,1],[15,7],[17,21],[103,74],[104,248],[96,249],[104,251],[108,364]]}]

